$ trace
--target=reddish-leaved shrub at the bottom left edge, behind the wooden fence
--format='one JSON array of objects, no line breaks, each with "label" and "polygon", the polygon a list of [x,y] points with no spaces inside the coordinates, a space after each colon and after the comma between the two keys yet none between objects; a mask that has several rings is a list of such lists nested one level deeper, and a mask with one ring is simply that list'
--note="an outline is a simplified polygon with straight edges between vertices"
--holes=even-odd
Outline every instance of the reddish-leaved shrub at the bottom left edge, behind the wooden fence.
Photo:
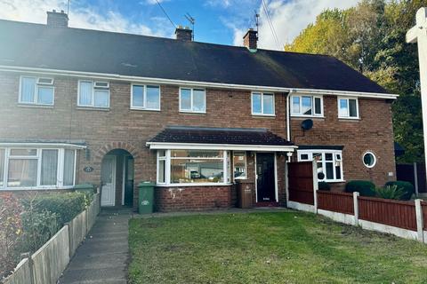
[{"label": "reddish-leaved shrub at the bottom left edge, behind the wooden fence", "polygon": [[0,280],[12,272],[18,261],[16,244],[22,234],[22,207],[11,193],[0,198]]}]

